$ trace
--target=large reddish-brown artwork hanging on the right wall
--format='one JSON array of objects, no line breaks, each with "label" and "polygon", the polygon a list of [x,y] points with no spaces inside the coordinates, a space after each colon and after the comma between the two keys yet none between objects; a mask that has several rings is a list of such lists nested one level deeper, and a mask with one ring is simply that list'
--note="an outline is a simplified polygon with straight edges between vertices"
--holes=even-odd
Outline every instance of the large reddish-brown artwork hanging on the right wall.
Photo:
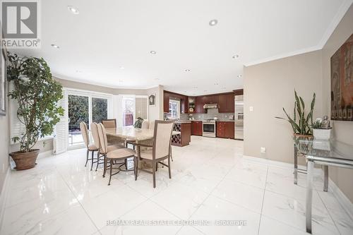
[{"label": "large reddish-brown artwork hanging on the right wall", "polygon": [[331,120],[353,121],[353,34],[331,57]]}]

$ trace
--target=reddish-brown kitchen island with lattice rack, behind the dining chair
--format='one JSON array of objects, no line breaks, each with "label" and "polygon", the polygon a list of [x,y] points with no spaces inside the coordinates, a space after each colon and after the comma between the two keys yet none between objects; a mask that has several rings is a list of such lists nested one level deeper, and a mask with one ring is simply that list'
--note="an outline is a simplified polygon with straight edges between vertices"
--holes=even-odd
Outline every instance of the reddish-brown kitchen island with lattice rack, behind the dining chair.
[{"label": "reddish-brown kitchen island with lattice rack, behind the dining chair", "polygon": [[173,131],[179,131],[177,135],[172,135],[172,145],[185,146],[191,142],[191,121],[175,121]]}]

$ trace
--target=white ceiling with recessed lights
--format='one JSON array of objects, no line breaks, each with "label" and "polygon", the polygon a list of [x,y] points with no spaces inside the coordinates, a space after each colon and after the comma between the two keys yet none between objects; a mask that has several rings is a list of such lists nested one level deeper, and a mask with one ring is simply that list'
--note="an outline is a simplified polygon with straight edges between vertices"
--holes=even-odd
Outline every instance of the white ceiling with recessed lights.
[{"label": "white ceiling with recessed lights", "polygon": [[[243,65],[321,49],[352,0],[41,3],[42,48],[20,53],[42,56],[54,76],[112,88],[160,84],[202,95],[242,88],[237,76]],[[211,27],[213,19],[218,24]]]}]

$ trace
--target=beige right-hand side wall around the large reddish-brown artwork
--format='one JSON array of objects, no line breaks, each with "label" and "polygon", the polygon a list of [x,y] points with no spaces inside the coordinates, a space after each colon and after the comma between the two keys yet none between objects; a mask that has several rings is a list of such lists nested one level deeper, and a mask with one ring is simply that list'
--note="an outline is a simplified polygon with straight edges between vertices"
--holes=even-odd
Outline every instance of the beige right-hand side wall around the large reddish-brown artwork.
[{"label": "beige right-hand side wall around the large reddish-brown artwork", "polygon": [[[330,57],[353,33],[353,6],[333,32],[323,47],[323,110],[330,114]],[[333,135],[337,140],[353,145],[353,121],[332,121]],[[330,178],[335,181],[341,191],[353,202],[353,170],[332,167]]]}]

